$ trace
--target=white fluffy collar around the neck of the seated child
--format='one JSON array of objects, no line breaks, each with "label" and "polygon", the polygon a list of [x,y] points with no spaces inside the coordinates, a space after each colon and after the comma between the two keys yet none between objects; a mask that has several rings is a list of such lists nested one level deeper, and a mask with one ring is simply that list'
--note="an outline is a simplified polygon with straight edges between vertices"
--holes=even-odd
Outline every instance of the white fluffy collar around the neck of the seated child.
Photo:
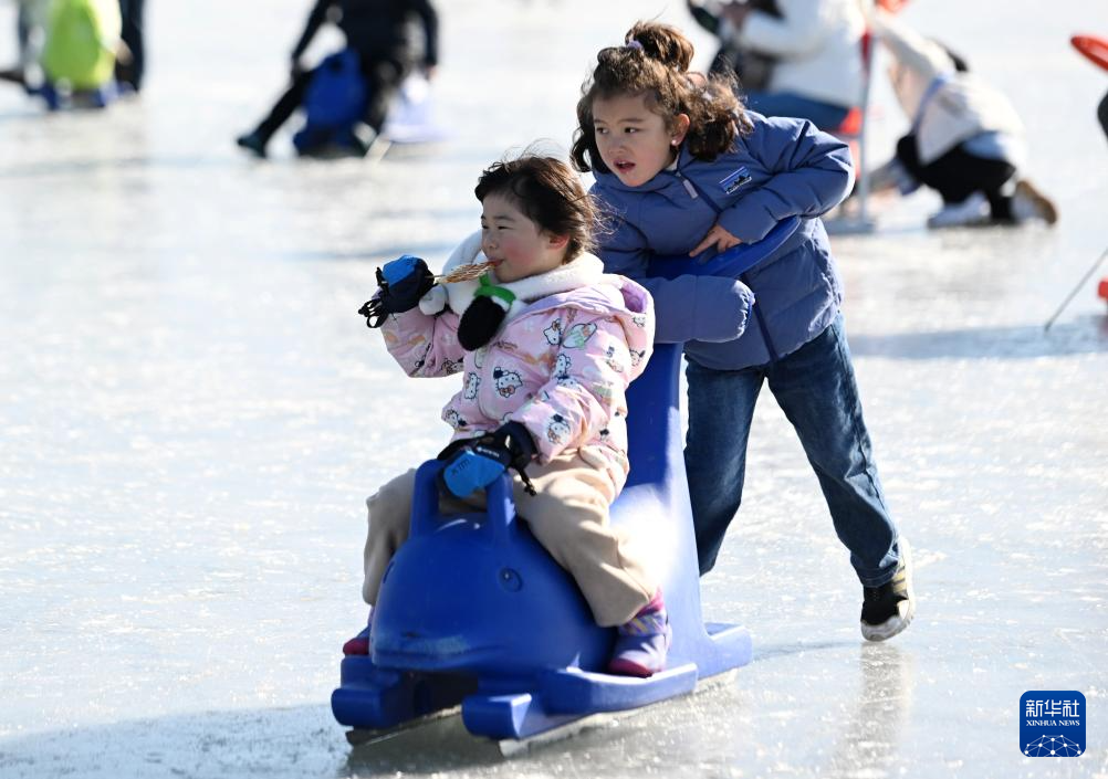
[{"label": "white fluffy collar around the neck of the seated child", "polygon": [[[462,241],[450,255],[442,272],[449,273],[460,266],[485,262],[484,252],[481,251],[481,233],[474,232]],[[491,271],[495,281],[496,272]],[[530,303],[546,298],[558,292],[589,287],[599,283],[604,276],[604,263],[594,255],[582,255],[568,264],[555,268],[540,276],[531,276],[519,281],[510,281],[499,284],[510,290],[515,295],[515,301],[507,310],[505,321],[512,320],[520,314]],[[452,284],[442,284],[433,288],[423,300],[420,301],[420,309],[427,314],[438,313],[444,305],[449,304],[451,310],[461,314],[473,302],[473,294],[479,287],[478,281],[458,281]],[[445,299],[441,290],[445,290]]]}]

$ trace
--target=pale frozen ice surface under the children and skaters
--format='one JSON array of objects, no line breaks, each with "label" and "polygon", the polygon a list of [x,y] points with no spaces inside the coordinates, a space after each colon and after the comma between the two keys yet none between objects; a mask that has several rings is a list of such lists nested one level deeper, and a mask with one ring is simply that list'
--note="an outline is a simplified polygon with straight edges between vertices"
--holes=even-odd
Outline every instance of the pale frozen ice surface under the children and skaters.
[{"label": "pale frozen ice surface under the children and skaters", "polygon": [[[595,50],[630,21],[690,25],[678,2],[440,4],[452,139],[376,166],[297,162],[287,133],[265,164],[232,144],[280,87],[304,0],[153,3],[148,92],[102,114],[0,93],[0,777],[1108,776],[1095,282],[1043,332],[1108,243],[1108,77],[1067,43],[1108,33],[1108,7],[1080,0],[905,11],[1013,97],[1055,229],[930,233],[919,195],[834,240],[916,550],[909,632],[861,641],[860,588],[766,394],[704,580],[707,614],[755,635],[732,683],[512,761],[456,720],[347,747],[327,700],[365,616],[362,499],[438,450],[454,386],[406,381],[362,326],[372,269],[441,260],[507,147],[566,146]],[[880,162],[904,123],[876,102]],[[1086,695],[1085,755],[1022,757],[1027,689]]]}]

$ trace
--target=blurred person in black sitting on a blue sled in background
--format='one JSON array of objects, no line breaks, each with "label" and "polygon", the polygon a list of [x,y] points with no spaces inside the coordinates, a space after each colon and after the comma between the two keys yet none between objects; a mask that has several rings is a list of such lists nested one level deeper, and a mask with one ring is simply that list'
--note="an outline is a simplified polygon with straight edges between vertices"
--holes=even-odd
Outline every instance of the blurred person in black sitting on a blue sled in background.
[{"label": "blurred person in black sitting on a blue sled in background", "polygon": [[418,45],[410,35],[413,20],[418,19],[423,28],[422,66],[430,74],[438,64],[439,18],[429,0],[317,0],[293,50],[293,83],[269,115],[253,132],[237,138],[239,146],[265,157],[269,138],[304,103],[316,71],[304,70],[300,56],[334,12],[341,14],[339,29],[347,45],[358,52],[369,92],[362,123],[353,131],[361,154],[369,150],[384,125],[393,95],[417,65]]}]

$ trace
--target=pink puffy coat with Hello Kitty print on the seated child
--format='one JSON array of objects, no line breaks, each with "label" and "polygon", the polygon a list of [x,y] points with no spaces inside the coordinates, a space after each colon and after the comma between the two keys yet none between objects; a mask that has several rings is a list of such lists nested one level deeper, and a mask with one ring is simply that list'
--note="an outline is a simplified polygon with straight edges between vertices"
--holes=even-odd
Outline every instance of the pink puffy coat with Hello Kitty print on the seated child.
[{"label": "pink puffy coat with Hello Kitty print on the seated child", "polygon": [[[483,261],[478,233],[454,251],[447,270]],[[654,344],[649,293],[604,273],[593,255],[502,285],[516,300],[488,345],[466,352],[458,343],[460,313],[476,288],[461,282],[390,316],[381,328],[389,353],[410,376],[463,374],[462,391],[442,409],[453,439],[519,422],[540,463],[577,449],[618,491],[628,470],[625,393]]]}]

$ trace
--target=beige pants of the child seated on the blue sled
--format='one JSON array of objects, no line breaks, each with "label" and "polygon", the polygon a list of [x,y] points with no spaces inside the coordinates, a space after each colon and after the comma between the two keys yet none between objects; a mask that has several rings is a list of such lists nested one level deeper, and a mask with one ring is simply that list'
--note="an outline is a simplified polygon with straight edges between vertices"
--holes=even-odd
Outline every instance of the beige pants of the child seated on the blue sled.
[{"label": "beige pants of the child seated on the blue sled", "polygon": [[[527,495],[515,477],[516,510],[546,551],[577,582],[598,625],[629,622],[657,590],[644,561],[629,548],[622,532],[608,523],[608,507],[615,499],[612,481],[574,453],[545,466],[527,467],[538,492]],[[366,536],[366,580],[361,595],[377,601],[381,578],[392,555],[408,539],[416,471],[392,479],[366,500],[369,532]],[[466,500],[440,496],[444,513],[484,508],[484,492]]]}]

